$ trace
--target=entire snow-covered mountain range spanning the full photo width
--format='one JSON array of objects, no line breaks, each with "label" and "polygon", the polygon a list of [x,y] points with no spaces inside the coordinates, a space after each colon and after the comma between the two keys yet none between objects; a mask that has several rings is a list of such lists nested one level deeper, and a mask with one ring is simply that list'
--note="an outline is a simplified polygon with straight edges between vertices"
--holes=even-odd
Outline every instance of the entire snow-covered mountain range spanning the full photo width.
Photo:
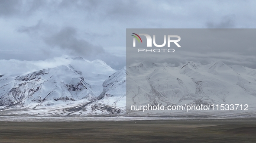
[{"label": "entire snow-covered mountain range spanning the full photo width", "polygon": [[[126,112],[126,98],[131,102],[128,106],[248,104],[248,112],[239,112],[245,115],[252,115],[256,109],[256,70],[241,65],[218,61],[208,65],[188,62],[173,67],[144,61],[130,65],[126,72],[126,68],[113,70],[101,60],[88,61],[81,57],[65,60],[68,64],[1,75],[0,114],[140,115],[141,112]],[[175,114],[187,113],[177,111]]]}]

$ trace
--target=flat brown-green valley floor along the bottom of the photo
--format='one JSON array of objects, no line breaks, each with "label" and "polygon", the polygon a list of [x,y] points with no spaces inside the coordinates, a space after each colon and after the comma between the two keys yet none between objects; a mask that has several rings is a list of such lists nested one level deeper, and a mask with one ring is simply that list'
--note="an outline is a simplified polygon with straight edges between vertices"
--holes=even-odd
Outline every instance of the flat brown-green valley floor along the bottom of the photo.
[{"label": "flat brown-green valley floor along the bottom of the photo", "polygon": [[256,143],[256,119],[0,121],[0,143]]}]

